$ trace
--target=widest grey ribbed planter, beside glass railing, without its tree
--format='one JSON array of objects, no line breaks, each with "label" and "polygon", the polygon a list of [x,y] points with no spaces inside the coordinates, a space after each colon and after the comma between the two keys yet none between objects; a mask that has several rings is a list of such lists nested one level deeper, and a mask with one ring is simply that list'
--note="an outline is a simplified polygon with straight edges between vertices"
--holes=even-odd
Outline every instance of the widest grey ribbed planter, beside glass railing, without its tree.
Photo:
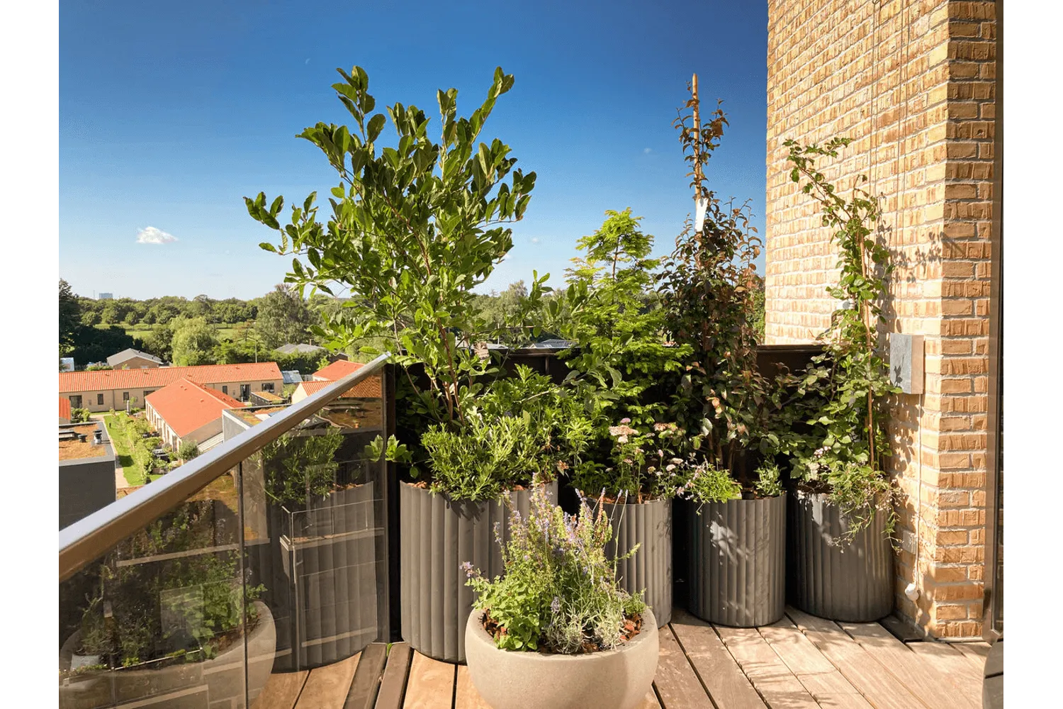
[{"label": "widest grey ribbed planter, beside glass railing, without its tree", "polygon": [[[557,483],[546,486],[557,500]],[[513,507],[527,516],[532,490],[510,492]],[[502,574],[502,551],[494,523],[508,537],[509,509],[504,501],[469,503],[433,495],[427,489],[399,485],[399,588],[402,637],[436,660],[465,661],[465,630],[475,594],[458,568],[466,561],[487,577]]]}]

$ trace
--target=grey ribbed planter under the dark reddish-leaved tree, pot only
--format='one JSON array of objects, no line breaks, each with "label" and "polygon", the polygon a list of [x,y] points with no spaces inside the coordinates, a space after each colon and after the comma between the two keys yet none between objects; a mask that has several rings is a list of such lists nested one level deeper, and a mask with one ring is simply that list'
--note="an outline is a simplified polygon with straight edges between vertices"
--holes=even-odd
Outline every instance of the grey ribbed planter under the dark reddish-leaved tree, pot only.
[{"label": "grey ribbed planter under the dark reddish-leaved tree, pot only", "polygon": [[687,608],[711,623],[769,625],[786,606],[786,493],[687,503]]}]

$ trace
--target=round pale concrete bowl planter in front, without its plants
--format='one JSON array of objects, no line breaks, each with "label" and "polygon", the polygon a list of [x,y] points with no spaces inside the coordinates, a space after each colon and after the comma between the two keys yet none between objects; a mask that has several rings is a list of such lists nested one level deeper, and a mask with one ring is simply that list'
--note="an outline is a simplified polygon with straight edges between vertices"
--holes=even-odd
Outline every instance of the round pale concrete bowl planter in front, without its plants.
[{"label": "round pale concrete bowl planter in front, without its plants", "polygon": [[483,614],[469,614],[466,655],[472,683],[492,709],[632,709],[652,691],[659,644],[651,610],[630,642],[586,655],[499,649]]}]

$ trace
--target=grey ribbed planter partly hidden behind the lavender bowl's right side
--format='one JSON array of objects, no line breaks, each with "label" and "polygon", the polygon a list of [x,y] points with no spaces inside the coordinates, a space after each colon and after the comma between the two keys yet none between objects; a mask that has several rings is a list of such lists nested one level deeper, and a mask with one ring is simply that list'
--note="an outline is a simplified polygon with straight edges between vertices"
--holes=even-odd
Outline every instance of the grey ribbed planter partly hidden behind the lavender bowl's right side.
[{"label": "grey ribbed planter partly hidden behind the lavender bowl's right side", "polygon": [[643,600],[654,611],[657,626],[672,620],[672,501],[640,504],[605,504],[612,524],[606,546],[610,558],[640,544],[629,559],[617,563],[617,578],[628,593],[645,591]]}]

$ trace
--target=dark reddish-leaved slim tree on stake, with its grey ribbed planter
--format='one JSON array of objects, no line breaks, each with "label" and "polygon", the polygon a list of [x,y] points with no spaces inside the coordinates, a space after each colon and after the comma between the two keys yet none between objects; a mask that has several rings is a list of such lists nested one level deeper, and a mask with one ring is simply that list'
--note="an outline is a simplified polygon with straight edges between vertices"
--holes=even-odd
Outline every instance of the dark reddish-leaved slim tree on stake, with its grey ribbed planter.
[{"label": "dark reddish-leaved slim tree on stake, with its grey ribbed planter", "polygon": [[[672,411],[689,432],[676,463],[686,522],[688,609],[713,623],[774,623],[784,607],[786,496],[766,428],[769,390],[757,369],[754,287],[760,238],[747,205],[723,203],[704,168],[727,125],[716,109],[702,123],[696,77],[676,120],[697,201],[664,259],[658,288],[672,339],[687,357]],[[758,467],[758,461],[760,462]]]}]

